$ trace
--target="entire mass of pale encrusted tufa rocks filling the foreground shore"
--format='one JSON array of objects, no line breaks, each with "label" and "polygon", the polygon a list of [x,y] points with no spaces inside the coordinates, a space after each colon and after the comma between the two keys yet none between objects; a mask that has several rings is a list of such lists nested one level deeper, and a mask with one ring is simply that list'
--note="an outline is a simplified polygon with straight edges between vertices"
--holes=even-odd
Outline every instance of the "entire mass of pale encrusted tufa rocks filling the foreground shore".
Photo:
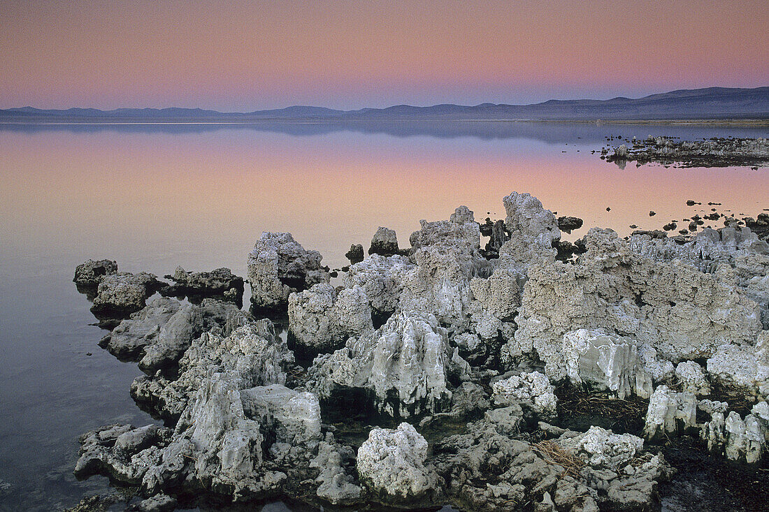
[{"label": "entire mass of pale encrusted tufa rocks filling the foreground shore", "polygon": [[674,474],[660,442],[679,436],[765,464],[769,245],[733,225],[567,244],[575,222],[530,194],[503,202],[501,223],[464,206],[421,221],[408,250],[380,228],[380,254],[353,246],[338,286],[317,251],[262,234],[251,309],[288,312],[285,335],[241,311],[226,269],[178,268],[164,293],[191,303],[145,304],[151,274],[78,267],[95,314],[122,318],[102,346],[138,361],[131,396],[165,425],[84,434],[75,473],[135,488],[146,510],[577,512],[654,510]]}]

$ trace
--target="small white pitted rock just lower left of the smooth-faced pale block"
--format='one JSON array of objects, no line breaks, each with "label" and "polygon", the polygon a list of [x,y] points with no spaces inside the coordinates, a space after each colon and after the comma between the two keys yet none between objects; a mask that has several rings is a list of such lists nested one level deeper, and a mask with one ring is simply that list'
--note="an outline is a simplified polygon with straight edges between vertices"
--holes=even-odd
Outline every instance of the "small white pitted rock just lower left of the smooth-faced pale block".
[{"label": "small white pitted rock just lower left of the smooth-faced pale block", "polygon": [[554,387],[548,377],[538,371],[494,381],[491,389],[494,391],[492,398],[495,404],[508,406],[520,403],[544,420],[558,414]]}]

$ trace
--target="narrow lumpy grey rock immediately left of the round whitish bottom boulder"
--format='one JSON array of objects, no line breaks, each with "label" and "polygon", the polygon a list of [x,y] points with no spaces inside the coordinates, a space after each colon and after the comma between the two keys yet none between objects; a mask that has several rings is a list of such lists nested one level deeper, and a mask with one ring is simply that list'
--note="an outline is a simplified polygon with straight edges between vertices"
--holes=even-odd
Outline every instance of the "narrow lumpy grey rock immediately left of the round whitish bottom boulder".
[{"label": "narrow lumpy grey rock immediately left of the round whitish bottom boulder", "polygon": [[315,494],[332,505],[353,503],[361,497],[361,487],[355,484],[350,467],[355,465],[355,451],[334,441],[334,435],[326,434],[318,444],[318,456],[310,461],[310,467],[320,471],[315,482]]}]

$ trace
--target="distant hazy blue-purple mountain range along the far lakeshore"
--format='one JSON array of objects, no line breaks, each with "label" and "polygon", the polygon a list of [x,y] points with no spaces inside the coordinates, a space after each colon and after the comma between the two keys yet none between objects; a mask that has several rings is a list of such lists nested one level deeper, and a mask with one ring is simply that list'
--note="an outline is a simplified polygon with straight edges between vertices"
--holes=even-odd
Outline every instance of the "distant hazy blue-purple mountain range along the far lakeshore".
[{"label": "distant hazy blue-purple mountain range along the far lakeshore", "polygon": [[769,118],[769,87],[681,89],[644,98],[549,100],[534,105],[432,105],[334,110],[295,105],[253,112],[219,112],[201,108],[68,108],[23,107],[0,110],[0,122],[248,122],[355,120],[598,121],[711,118]]}]

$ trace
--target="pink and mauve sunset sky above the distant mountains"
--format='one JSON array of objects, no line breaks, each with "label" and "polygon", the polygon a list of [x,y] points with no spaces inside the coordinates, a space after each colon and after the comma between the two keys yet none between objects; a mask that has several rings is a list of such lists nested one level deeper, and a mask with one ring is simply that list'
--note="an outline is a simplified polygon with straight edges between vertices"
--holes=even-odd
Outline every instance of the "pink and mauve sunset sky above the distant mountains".
[{"label": "pink and mauve sunset sky above the distant mountains", "polygon": [[769,85],[766,0],[0,2],[0,108],[381,108]]}]

